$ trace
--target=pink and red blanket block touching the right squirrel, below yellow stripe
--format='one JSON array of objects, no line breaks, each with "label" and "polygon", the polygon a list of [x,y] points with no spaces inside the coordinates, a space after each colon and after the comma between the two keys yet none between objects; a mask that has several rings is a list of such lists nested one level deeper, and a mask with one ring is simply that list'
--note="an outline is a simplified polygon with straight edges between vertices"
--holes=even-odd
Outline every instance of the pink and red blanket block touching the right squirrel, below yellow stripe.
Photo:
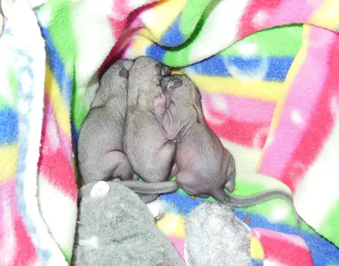
[{"label": "pink and red blanket block touching the right squirrel, below yellow stripe", "polygon": [[[236,99],[222,94],[204,94],[202,106],[206,122],[218,137],[255,149],[262,149],[265,145],[274,103]],[[239,106],[244,108],[239,109]],[[262,118],[256,119],[256,115]]]}]

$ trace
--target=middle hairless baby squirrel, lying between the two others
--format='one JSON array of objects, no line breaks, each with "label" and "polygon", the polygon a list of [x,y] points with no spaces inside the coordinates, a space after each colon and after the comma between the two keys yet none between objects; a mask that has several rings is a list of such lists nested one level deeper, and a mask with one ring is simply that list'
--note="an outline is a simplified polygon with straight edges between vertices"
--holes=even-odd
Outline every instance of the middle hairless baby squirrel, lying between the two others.
[{"label": "middle hairless baby squirrel, lying between the two others", "polygon": [[[176,144],[169,140],[154,114],[152,100],[162,93],[161,79],[170,74],[170,68],[150,57],[139,57],[133,66],[128,66],[127,112],[123,147],[133,170],[145,182],[164,182],[170,177],[170,170]],[[124,185],[140,192],[141,185],[124,182]],[[161,191],[178,189],[175,182],[164,182]],[[146,184],[142,184],[145,186]],[[140,187],[139,187],[140,188]],[[159,192],[160,193],[160,192]],[[150,194],[146,192],[145,194]],[[139,195],[144,201],[146,195]],[[150,195],[155,199],[157,195]]]}]

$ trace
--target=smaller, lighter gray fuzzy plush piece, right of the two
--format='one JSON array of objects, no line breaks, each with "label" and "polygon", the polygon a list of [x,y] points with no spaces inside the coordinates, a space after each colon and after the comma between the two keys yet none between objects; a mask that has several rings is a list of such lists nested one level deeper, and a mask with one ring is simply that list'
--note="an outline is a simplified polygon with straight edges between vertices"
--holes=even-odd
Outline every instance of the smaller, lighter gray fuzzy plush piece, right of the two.
[{"label": "smaller, lighter gray fuzzy plush piece, right of the two", "polygon": [[252,265],[249,231],[229,207],[200,204],[185,219],[186,265]]}]

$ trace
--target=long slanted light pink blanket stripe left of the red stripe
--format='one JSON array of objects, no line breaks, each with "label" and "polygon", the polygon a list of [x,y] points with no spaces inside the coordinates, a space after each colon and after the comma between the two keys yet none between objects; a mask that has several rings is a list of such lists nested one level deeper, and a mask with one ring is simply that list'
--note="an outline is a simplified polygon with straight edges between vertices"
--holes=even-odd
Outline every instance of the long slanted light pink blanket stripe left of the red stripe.
[{"label": "long slanted light pink blanket stripe left of the red stripe", "polygon": [[[272,132],[272,142],[265,148],[260,173],[283,179],[286,164],[302,140],[322,93],[328,73],[329,52],[335,35],[329,30],[312,28],[308,57],[286,97],[278,126]],[[317,43],[322,39],[328,42]]]}]

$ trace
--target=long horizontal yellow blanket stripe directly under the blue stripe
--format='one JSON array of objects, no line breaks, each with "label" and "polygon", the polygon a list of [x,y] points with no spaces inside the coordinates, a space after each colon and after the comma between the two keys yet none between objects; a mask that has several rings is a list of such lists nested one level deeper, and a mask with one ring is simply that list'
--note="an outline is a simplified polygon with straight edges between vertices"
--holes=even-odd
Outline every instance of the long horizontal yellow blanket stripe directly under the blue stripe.
[{"label": "long horizontal yellow blanket stripe directly under the blue stripe", "polygon": [[276,102],[285,92],[282,82],[244,81],[236,78],[198,76],[187,73],[201,91],[209,93],[227,93],[235,96],[256,98]]}]

